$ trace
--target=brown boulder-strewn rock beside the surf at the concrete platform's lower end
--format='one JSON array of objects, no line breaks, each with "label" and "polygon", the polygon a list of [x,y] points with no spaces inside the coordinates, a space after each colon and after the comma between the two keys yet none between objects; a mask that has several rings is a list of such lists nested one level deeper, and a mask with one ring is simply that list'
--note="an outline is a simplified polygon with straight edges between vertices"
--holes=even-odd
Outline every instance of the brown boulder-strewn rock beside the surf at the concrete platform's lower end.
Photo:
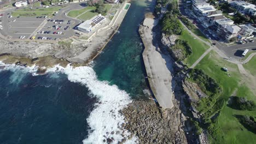
[{"label": "brown boulder-strewn rock beside the surf at the concrete platform's lower end", "polygon": [[162,111],[154,101],[133,101],[121,111],[127,122],[124,128],[137,136],[139,143],[187,143],[176,106]]}]

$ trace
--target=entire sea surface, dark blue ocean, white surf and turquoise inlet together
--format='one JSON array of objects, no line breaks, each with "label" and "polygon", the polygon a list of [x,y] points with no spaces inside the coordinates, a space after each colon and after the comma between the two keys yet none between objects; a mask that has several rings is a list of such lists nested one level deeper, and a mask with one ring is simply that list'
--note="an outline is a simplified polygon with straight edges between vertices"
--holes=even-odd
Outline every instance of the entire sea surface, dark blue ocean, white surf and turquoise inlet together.
[{"label": "entire sea surface, dark blue ocean, white surf and turquoise inlet together", "polygon": [[56,65],[34,75],[37,68],[0,63],[0,143],[117,143],[130,135],[120,129],[119,111],[146,97],[137,30],[151,4],[131,3],[119,33],[90,67]]}]

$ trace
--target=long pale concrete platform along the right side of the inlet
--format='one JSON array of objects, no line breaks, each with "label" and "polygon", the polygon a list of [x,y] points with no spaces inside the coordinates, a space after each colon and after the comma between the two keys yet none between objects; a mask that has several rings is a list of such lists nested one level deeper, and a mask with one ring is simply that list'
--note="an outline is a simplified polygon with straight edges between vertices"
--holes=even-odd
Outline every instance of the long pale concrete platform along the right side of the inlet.
[{"label": "long pale concrete platform along the right side of the inlet", "polygon": [[[148,23],[147,18],[147,23]],[[168,70],[166,61],[158,52],[158,47],[152,44],[153,40],[153,23],[143,25],[139,28],[139,33],[145,49],[143,51],[143,61],[146,67],[150,88],[152,89],[156,100],[163,109],[171,109],[172,103],[172,75]]]}]

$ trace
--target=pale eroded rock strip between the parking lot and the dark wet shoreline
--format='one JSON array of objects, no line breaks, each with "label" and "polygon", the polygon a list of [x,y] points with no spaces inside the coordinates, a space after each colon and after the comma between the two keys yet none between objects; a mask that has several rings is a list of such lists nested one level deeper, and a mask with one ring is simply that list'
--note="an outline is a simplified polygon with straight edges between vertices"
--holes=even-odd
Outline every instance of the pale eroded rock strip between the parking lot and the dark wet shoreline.
[{"label": "pale eroded rock strip between the parking lot and the dark wet shoreline", "polygon": [[36,41],[8,41],[0,39],[1,53],[13,56],[26,56],[30,58],[55,56],[55,58],[69,58],[78,55],[86,49],[83,43],[75,43],[71,46],[57,43],[38,43]]}]

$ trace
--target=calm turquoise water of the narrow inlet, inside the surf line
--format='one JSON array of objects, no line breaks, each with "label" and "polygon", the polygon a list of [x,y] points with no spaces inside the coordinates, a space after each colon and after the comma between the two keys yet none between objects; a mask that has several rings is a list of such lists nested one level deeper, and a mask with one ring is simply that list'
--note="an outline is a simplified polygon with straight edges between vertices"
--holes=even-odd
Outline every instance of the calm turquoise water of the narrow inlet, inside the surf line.
[{"label": "calm turquoise water of the narrow inlet, inside the surf line", "polygon": [[117,85],[133,98],[144,97],[142,90],[147,87],[138,28],[150,6],[152,3],[132,1],[119,32],[95,59],[98,79]]}]

